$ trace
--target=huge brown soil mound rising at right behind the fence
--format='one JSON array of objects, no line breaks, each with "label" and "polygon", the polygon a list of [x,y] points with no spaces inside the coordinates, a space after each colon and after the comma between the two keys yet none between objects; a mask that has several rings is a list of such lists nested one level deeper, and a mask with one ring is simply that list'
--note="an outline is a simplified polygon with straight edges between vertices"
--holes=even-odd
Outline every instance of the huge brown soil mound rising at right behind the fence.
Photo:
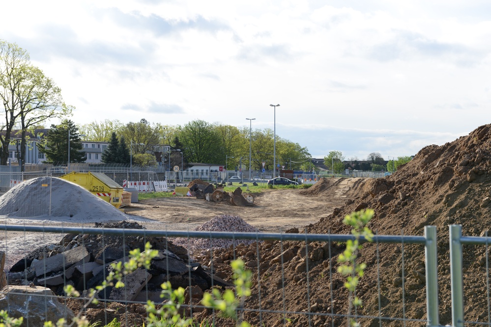
[{"label": "huge brown soil mound rising at right behind the fence", "polygon": [[[461,137],[443,146],[427,146],[414,159],[399,167],[396,174],[385,178],[355,184],[346,205],[332,215],[321,218],[318,223],[307,226],[309,233],[348,233],[342,223],[345,215],[363,208],[373,208],[375,217],[370,223],[372,230],[383,235],[423,235],[424,226],[433,225],[438,231],[438,283],[440,296],[440,324],[451,323],[450,274],[448,225],[461,224],[466,236],[479,236],[491,224],[490,175],[491,168],[491,125],[481,126],[468,136]],[[330,192],[329,180],[320,180],[305,195],[324,196]],[[342,181],[340,181],[342,182]],[[261,309],[302,311],[310,307],[311,312],[346,314],[347,291],[343,287],[344,277],[336,273],[337,257],[345,248],[344,244],[332,244],[331,267],[329,248],[321,242],[309,244],[309,276],[301,263],[305,257],[305,244],[298,242],[264,242],[259,245],[261,276]],[[361,278],[358,295],[364,305],[358,314],[378,316],[378,302],[382,316],[406,319],[426,318],[424,247],[404,245],[404,301],[402,289],[402,255],[399,244],[366,244],[361,257],[368,267]],[[463,252],[465,280],[465,319],[486,320],[485,247],[465,247]],[[238,247],[236,253],[253,251],[256,245]],[[377,253],[378,251],[378,260]],[[289,260],[281,266],[274,258],[282,252],[291,252]],[[233,252],[214,251],[213,257],[226,261]],[[246,262],[256,261],[256,256],[243,256]],[[377,266],[377,261],[379,265]],[[305,264],[303,265],[303,267]],[[226,264],[215,265],[217,270],[230,272]],[[300,267],[300,268],[299,268]],[[377,270],[380,271],[380,289],[377,287]],[[332,278],[329,279],[330,272]],[[252,297],[246,306],[259,301],[257,270]],[[282,278],[284,278],[282,282]],[[307,286],[308,285],[308,286]],[[473,286],[479,286],[475,291]],[[309,287],[309,298],[307,298]],[[379,293],[380,290],[380,293]],[[285,292],[285,307],[282,301]],[[330,300],[332,292],[334,302]],[[379,300],[380,296],[380,300]],[[309,299],[309,302],[308,302]],[[404,303],[404,308],[403,308]],[[287,315],[291,326],[308,326],[307,315]],[[258,324],[255,313],[246,313],[245,319]],[[312,316],[312,326],[331,326],[328,316]],[[281,314],[262,314],[265,326],[283,324]],[[334,326],[346,321],[334,318]],[[378,319],[361,322],[362,326],[378,326]],[[400,321],[384,321],[384,326],[400,326]],[[290,326],[290,325],[288,325]],[[421,323],[407,322],[406,326],[421,326]]]}]

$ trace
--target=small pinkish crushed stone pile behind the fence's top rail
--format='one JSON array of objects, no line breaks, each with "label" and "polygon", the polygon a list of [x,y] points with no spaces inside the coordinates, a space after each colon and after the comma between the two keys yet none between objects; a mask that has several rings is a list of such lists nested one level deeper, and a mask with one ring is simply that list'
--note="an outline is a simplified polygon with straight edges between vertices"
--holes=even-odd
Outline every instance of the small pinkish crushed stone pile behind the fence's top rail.
[{"label": "small pinkish crushed stone pile behind the fence's top rail", "polygon": [[[196,227],[197,231],[230,231],[230,232],[259,232],[260,230],[254,226],[247,224],[239,216],[221,215],[210,219],[201,226]],[[209,249],[224,249],[239,244],[249,245],[256,243],[253,240],[238,240],[238,239],[200,239],[200,238],[184,238],[179,237],[173,240],[174,244],[181,245],[188,249],[194,250],[209,250]]]}]

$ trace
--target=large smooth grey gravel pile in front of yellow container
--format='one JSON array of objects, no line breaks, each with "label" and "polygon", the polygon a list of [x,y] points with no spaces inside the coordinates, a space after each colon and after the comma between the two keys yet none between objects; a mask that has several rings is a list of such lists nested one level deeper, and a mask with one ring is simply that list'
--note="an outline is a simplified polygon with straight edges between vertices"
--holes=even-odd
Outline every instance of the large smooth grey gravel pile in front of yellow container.
[{"label": "large smooth grey gravel pile in front of yellow container", "polygon": [[49,176],[26,180],[6,192],[0,198],[0,215],[84,223],[128,218],[83,187]]}]

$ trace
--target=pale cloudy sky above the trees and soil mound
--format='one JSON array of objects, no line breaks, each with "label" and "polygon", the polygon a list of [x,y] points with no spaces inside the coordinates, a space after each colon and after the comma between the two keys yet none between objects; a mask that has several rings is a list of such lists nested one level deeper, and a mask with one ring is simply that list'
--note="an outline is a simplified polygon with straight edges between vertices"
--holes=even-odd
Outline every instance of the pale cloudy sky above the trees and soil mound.
[{"label": "pale cloudy sky above the trees and soil mound", "polygon": [[0,15],[76,124],[255,118],[315,158],[388,160],[489,123],[490,1],[19,0]]}]

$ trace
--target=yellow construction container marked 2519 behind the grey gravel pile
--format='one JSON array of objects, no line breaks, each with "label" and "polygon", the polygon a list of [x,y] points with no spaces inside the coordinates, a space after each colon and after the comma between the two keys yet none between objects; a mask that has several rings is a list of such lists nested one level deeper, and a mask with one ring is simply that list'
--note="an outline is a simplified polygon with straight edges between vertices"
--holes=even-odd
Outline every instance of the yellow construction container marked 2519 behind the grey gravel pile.
[{"label": "yellow construction container marked 2519 behind the grey gravel pile", "polygon": [[60,178],[82,186],[96,197],[108,201],[116,208],[119,208],[122,203],[123,187],[102,173],[71,172]]}]

